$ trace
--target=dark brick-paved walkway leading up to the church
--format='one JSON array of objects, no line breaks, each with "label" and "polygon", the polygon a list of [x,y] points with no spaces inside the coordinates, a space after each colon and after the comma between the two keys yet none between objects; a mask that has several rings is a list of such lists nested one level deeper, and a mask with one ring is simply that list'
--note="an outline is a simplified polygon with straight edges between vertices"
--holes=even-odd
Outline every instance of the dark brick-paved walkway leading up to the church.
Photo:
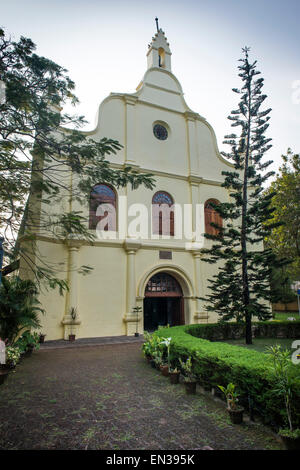
[{"label": "dark brick-paved walkway leading up to the church", "polygon": [[0,416],[0,449],[282,448],[258,423],[230,424],[225,404],[201,389],[171,385],[140,341],[45,345],[0,386]]}]

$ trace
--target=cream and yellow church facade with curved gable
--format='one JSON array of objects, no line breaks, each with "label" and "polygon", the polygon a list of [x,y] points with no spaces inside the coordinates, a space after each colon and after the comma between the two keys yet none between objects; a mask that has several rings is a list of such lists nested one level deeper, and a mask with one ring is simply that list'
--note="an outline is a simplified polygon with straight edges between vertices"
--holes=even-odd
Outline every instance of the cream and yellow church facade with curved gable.
[{"label": "cream and yellow church facade with curved gable", "polygon": [[[44,257],[66,261],[69,282],[63,296],[41,294],[47,340],[215,321],[199,300],[216,270],[201,261],[201,248],[210,243],[203,237],[214,230],[210,222],[221,222],[210,202],[229,200],[221,173],[232,165],[220,155],[209,123],[187,106],[161,29],[149,45],[147,70],[136,92],[111,93],[89,135],[118,140],[123,148],[108,157],[111,165],[152,173],[155,188],[116,189],[95,181],[86,207],[72,203],[72,210],[85,212],[89,230],[98,232],[93,244],[76,237],[68,243],[38,237]],[[105,204],[113,208],[107,219]],[[143,223],[137,223],[137,215]],[[87,276],[76,270],[83,264],[93,268]]]}]

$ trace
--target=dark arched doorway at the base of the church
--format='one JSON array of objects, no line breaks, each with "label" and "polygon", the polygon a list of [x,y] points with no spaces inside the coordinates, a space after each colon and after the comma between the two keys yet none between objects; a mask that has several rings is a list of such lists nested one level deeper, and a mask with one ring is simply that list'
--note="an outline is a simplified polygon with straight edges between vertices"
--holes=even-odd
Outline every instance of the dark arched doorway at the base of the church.
[{"label": "dark arched doorway at the base of the church", "polygon": [[157,273],[146,284],[144,330],[184,324],[183,294],[178,281],[167,273]]}]

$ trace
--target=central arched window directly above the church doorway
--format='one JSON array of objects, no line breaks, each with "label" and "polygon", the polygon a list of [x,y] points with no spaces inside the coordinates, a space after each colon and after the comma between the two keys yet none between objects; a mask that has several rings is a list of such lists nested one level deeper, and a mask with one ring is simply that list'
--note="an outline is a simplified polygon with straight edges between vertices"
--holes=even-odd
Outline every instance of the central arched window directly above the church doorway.
[{"label": "central arched window directly above the church doorway", "polygon": [[174,236],[174,201],[165,191],[158,191],[152,198],[152,231]]}]

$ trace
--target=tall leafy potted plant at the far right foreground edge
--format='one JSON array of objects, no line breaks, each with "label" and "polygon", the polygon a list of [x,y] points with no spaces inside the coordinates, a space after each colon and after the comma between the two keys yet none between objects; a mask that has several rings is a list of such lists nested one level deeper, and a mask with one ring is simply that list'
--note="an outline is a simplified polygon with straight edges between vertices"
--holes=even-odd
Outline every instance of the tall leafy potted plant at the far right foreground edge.
[{"label": "tall leafy potted plant at the far right foreground edge", "polygon": [[293,366],[290,358],[291,353],[288,349],[281,349],[279,345],[270,346],[267,348],[267,353],[273,359],[273,372],[276,378],[273,392],[283,397],[286,409],[288,426],[280,429],[278,434],[287,450],[299,450],[300,429],[294,427],[292,416],[293,377],[291,372]]}]

